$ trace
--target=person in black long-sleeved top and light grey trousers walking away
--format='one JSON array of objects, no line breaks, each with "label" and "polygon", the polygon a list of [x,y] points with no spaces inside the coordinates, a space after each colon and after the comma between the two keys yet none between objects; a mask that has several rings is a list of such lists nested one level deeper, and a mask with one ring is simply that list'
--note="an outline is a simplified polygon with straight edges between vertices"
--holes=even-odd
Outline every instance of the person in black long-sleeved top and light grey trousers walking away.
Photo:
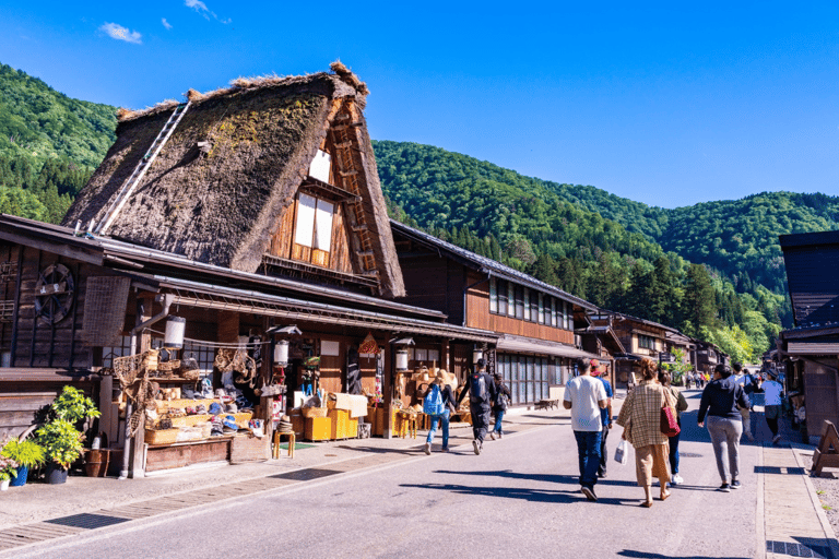
[{"label": "person in black long-sleeved top and light grey trousers walking away", "polygon": [[[740,408],[743,407],[749,407],[746,392],[733,381],[728,366],[718,365],[713,369],[713,380],[702,391],[697,421],[699,427],[705,427],[708,416],[708,432],[722,480],[720,491],[740,488],[740,437],[743,435]],[[728,456],[723,456],[723,452]]]}]

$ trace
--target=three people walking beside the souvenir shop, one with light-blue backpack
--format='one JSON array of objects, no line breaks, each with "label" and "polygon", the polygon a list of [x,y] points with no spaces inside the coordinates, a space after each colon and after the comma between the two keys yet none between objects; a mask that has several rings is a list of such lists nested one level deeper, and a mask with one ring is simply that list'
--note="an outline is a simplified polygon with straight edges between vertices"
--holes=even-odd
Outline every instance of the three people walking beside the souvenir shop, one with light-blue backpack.
[{"label": "three people walking beside the souvenir shop, one with light-blue backpack", "polygon": [[[442,430],[442,452],[449,451],[449,418],[453,412],[458,411],[461,402],[469,395],[469,411],[472,416],[472,433],[474,439],[472,447],[475,454],[481,454],[484,447],[484,440],[487,435],[492,440],[496,437],[504,437],[503,420],[507,407],[510,405],[511,396],[509,386],[504,383],[500,374],[491,377],[486,372],[486,362],[478,359],[475,364],[475,370],[469,376],[465,386],[456,399],[451,385],[445,382],[446,371],[438,370],[437,376],[423,395],[425,402],[442,403],[439,413],[432,413],[432,426],[428,430],[428,437],[425,440],[425,453],[432,453],[432,443],[437,433],[437,427]],[[495,424],[492,425],[492,415],[495,415]]]}]

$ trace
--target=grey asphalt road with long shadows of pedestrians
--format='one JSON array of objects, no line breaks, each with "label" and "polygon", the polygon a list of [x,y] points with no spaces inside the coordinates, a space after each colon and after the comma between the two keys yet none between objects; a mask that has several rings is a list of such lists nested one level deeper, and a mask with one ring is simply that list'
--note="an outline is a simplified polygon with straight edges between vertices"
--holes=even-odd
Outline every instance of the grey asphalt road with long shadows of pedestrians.
[{"label": "grey asphalt road with long shadows of pedestrians", "polygon": [[[758,449],[741,448],[743,488],[717,491],[708,433],[696,427],[698,392],[687,394],[685,485],[651,509],[639,507],[631,459],[612,460],[599,502],[588,502],[569,419],[533,412],[543,425],[487,441],[480,456],[471,444],[432,456],[417,445],[386,467],[111,526],[20,557],[755,557]],[[616,428],[610,454],[618,438]]]}]

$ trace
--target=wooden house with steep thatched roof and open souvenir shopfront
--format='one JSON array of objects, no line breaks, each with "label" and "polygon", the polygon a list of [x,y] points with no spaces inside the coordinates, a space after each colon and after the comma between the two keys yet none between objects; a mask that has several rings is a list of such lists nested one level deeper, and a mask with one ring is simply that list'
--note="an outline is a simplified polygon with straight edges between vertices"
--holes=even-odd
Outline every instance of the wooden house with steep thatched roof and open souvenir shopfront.
[{"label": "wooden house with steep thatched roof and open souvenir shopfront", "polygon": [[[177,357],[189,355],[214,389],[226,383],[218,349],[248,349],[258,369],[237,386],[260,400],[279,383],[286,409],[312,362],[323,390],[381,391],[387,406],[401,344],[438,361],[451,359],[452,342],[495,344],[492,332],[394,300],[405,290],[363,115],[366,86],[333,70],[237,81],[190,92],[188,104],[123,114],[61,226],[0,216],[0,429],[22,431],[73,382],[98,397],[101,429],[121,442],[126,409],[104,371],[159,347],[169,317],[186,321]],[[154,381],[169,396],[184,384]],[[257,413],[270,412],[260,400]],[[144,443],[139,420],[131,475],[236,454],[224,438]],[[389,417],[382,433],[392,427]]]}]

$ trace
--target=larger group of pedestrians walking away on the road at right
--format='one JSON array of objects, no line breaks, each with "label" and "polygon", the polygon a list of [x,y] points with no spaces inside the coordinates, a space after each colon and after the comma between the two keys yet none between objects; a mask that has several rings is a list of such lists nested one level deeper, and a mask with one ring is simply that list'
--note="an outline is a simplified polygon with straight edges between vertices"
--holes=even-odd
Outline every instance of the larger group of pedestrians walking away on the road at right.
[{"label": "larger group of pedestrians walking away on the road at right", "polygon": [[[605,465],[601,468],[601,463],[605,464],[607,460],[605,440],[612,428],[611,386],[605,379],[598,378],[598,365],[596,360],[578,360],[579,376],[566,385],[564,400],[565,408],[571,411],[571,426],[577,440],[580,491],[590,501],[598,500],[594,486],[599,477],[606,475]],[[773,371],[768,371],[768,374],[769,379],[761,385],[755,376],[743,373],[737,364],[734,370],[718,365],[702,391],[697,423],[699,427],[707,424],[721,478],[720,491],[741,487],[740,438],[744,427],[752,437],[748,423],[751,394],[758,391],[765,393],[766,418],[772,442],[780,440],[778,418],[783,386],[777,382]],[[640,361],[640,378],[627,395],[615,423],[624,428],[622,439],[635,449],[636,478],[645,491],[641,506],[649,508],[653,504],[653,478],[659,480],[659,498],[662,501],[670,497],[670,486],[684,483],[678,475],[678,442],[682,412],[688,405],[684,395],[671,384],[670,373],[659,370],[651,359]],[[662,431],[662,414],[670,414],[678,428],[665,435]]]}]

